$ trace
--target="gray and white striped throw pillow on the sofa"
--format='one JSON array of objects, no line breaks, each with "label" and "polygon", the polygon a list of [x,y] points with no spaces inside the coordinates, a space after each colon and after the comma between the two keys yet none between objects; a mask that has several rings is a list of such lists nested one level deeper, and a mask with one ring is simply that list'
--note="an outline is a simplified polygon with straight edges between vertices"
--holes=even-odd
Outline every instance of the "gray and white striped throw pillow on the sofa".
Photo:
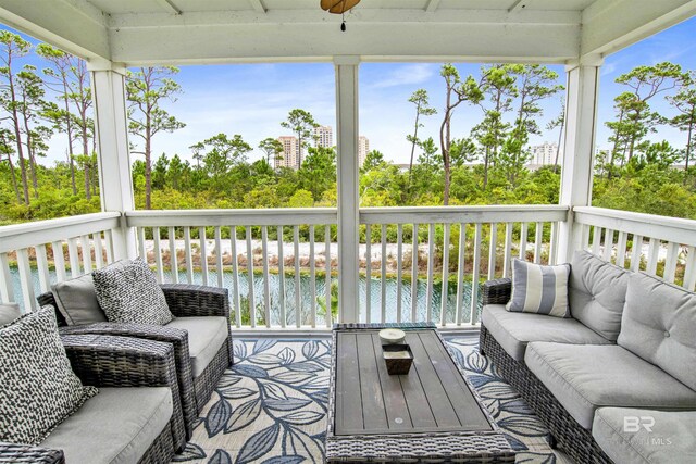
[{"label": "gray and white striped throw pillow on the sofa", "polygon": [[508,311],[570,317],[568,279],[570,264],[543,266],[512,260],[512,297]]}]

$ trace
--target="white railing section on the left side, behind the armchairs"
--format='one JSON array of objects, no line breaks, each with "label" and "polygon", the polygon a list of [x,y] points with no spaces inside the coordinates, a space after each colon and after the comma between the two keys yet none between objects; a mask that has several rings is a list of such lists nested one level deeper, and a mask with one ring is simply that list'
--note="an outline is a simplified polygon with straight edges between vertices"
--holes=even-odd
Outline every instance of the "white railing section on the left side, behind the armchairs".
[{"label": "white railing section on the left side, behind the armchairs", "polygon": [[20,300],[15,298],[10,261],[16,261],[25,310],[37,306],[35,278],[44,292],[52,281],[65,280],[69,272],[71,277],[78,277],[113,262],[111,231],[119,227],[120,217],[121,213],[95,213],[0,227],[1,301]]}]

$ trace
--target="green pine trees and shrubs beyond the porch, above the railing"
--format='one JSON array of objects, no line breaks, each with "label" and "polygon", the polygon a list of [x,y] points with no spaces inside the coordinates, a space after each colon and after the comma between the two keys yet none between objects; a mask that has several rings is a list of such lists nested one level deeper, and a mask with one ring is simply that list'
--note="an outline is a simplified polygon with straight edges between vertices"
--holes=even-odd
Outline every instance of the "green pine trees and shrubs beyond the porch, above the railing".
[{"label": "green pine trees and shrubs beyond the porch, above the railing", "polygon": [[[34,53],[45,66],[20,66]],[[99,211],[92,96],[84,61],[45,43],[36,47],[0,32],[0,224]],[[313,116],[293,109],[278,127],[291,130],[301,147],[293,167],[274,168],[283,146],[273,137],[258,148],[239,134],[203,134],[181,153],[156,153],[153,141],[185,126],[163,109],[183,91],[175,67],[140,67],[126,77],[130,151],[138,209],[311,208],[336,205],[336,152],[312,147]],[[543,102],[559,99],[559,76],[543,65],[494,64],[460,76],[440,68],[443,108],[433,108],[424,89],[409,98],[413,125],[408,170],[371,151],[361,168],[363,206],[557,203],[558,153],[552,165],[530,171],[530,137],[542,133]],[[595,205],[696,218],[696,73],[672,63],[637,66],[617,78],[625,91],[614,99],[607,123],[611,149],[596,159]],[[654,110],[663,100],[669,115]],[[461,114],[477,124],[456,129]],[[420,129],[436,124],[438,140]],[[684,134],[683,147],[654,141],[663,126]],[[546,126],[564,130],[563,104]],[[64,161],[46,166],[48,142],[64,137]],[[408,153],[407,153],[408,154]],[[190,160],[190,161],[189,161]],[[683,163],[683,170],[674,164]]]}]

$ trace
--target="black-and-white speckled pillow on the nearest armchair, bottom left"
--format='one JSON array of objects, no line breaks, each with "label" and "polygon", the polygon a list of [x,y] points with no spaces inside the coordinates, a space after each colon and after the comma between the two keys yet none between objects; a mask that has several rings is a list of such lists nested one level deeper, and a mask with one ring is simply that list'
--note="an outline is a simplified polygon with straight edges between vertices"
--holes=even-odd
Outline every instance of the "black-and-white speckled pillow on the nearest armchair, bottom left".
[{"label": "black-and-white speckled pillow on the nearest armchair, bottom left", "polygon": [[39,444],[95,394],[70,366],[52,308],[0,328],[0,441]]}]

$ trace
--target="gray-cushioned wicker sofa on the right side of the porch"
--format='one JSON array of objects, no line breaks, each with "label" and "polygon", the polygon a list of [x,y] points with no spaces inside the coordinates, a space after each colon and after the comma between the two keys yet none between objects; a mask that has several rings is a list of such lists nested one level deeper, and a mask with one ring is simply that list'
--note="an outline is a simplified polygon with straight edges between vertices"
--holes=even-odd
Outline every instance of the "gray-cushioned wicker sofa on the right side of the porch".
[{"label": "gray-cushioned wicker sofa on the right side of the porch", "polygon": [[696,462],[696,294],[586,251],[568,291],[559,318],[508,312],[509,279],[486,283],[482,353],[576,462]]}]

